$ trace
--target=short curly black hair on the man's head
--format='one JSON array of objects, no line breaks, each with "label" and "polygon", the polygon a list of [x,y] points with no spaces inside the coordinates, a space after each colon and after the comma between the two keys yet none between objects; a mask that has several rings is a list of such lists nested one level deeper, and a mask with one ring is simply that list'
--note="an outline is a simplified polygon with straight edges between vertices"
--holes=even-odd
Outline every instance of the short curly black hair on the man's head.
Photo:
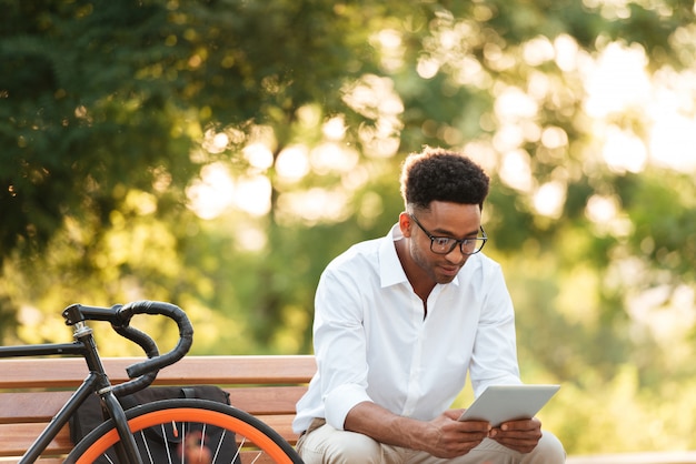
[{"label": "short curly black hair on the man's head", "polygon": [[411,153],[401,169],[401,196],[409,205],[428,210],[434,201],[484,208],[489,178],[474,161],[438,148]]}]

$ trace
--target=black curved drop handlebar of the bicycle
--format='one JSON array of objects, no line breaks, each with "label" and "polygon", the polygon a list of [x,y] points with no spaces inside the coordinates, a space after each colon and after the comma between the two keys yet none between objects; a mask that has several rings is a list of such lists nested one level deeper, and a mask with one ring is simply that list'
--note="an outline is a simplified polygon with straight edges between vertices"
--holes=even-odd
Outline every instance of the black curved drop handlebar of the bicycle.
[{"label": "black curved drop handlebar of the bicycle", "polygon": [[[137,314],[163,315],[177,323],[179,327],[179,342],[162,355],[159,354],[157,343],[150,335],[130,326],[130,320]],[[110,322],[113,330],[121,336],[137,343],[148,356],[148,360],[132,364],[126,369],[129,382],[116,385],[113,393],[123,396],[150,385],[160,369],[171,365],[188,353],[193,343],[193,326],[186,313],[171,303],[159,301],[136,301],[126,305],[111,307],[84,306],[73,304],[63,311],[66,324],[74,325],[83,321]]]}]

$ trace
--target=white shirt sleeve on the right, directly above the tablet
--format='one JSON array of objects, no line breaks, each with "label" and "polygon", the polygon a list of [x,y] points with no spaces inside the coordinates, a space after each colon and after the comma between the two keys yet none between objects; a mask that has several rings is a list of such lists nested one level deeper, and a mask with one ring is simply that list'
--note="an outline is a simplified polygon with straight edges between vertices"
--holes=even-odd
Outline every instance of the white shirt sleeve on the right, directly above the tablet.
[{"label": "white shirt sleeve on the right, directly above the tablet", "polygon": [[[487,282],[486,282],[487,281]],[[469,373],[478,396],[493,384],[519,384],[515,311],[499,265],[489,270]]]}]

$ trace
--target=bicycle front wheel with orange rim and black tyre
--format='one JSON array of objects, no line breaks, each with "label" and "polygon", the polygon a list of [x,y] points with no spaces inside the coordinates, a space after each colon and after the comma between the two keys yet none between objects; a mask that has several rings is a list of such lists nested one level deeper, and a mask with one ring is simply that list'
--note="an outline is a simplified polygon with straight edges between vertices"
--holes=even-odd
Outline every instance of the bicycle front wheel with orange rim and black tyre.
[{"label": "bicycle front wheel with orange rim and black tyre", "polygon": [[[302,463],[270,426],[226,404],[162,400],[130,408],[126,417],[143,463]],[[119,463],[119,442],[109,420],[82,438],[66,463]]]}]

